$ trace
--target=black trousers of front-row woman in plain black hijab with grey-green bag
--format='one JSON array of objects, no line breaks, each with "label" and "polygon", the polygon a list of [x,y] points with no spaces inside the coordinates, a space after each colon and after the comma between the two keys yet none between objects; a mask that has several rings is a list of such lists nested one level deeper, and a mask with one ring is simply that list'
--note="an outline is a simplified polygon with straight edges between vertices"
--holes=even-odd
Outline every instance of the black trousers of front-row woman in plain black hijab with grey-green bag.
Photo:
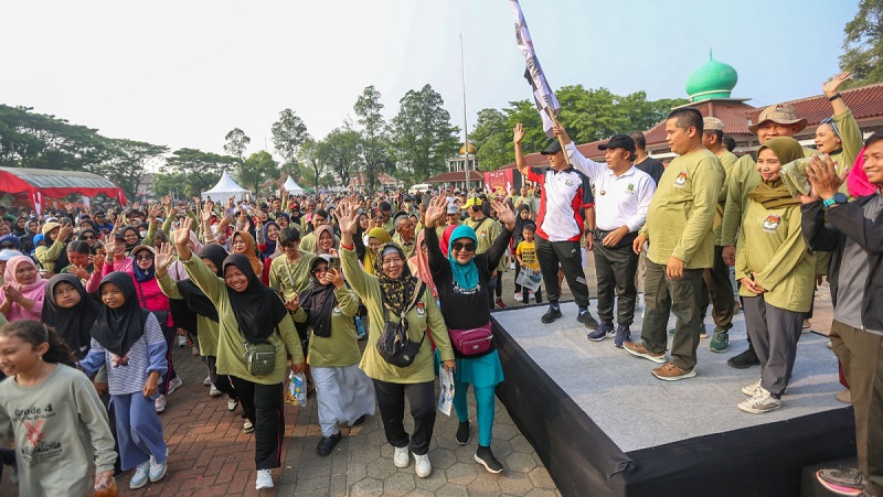
[{"label": "black trousers of front-row woman in plain black hijab with grey-green bag", "polygon": [[240,404],[245,417],[255,426],[256,468],[279,467],[285,436],[284,383],[260,385],[235,376],[230,379],[240,395]]}]

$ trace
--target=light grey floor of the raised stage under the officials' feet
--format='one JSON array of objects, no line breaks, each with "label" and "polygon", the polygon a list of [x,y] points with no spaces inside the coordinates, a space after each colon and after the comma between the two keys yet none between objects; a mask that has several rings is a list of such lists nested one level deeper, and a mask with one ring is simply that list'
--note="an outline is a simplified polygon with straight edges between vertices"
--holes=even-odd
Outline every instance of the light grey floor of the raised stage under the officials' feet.
[{"label": "light grey floor of the raised stage under the officials' feet", "polygon": [[[760,368],[726,365],[726,359],[747,347],[742,313],[733,321],[730,350],[711,353],[710,338],[703,338],[696,377],[661,381],[650,374],[659,365],[614,347],[613,338],[588,341],[587,329],[575,321],[574,303],[562,304],[564,317],[552,324],[540,322],[545,311],[540,305],[496,312],[493,317],[623,452],[844,408],[834,399],[842,387],[826,336],[807,333],[800,338],[783,407],[749,414],[736,404],[746,398],[742,387],[757,381]],[[594,306],[592,312],[597,317]],[[637,314],[631,338],[639,342],[640,311]],[[673,325],[672,316],[669,327]],[[711,332],[714,326],[708,328]]]}]

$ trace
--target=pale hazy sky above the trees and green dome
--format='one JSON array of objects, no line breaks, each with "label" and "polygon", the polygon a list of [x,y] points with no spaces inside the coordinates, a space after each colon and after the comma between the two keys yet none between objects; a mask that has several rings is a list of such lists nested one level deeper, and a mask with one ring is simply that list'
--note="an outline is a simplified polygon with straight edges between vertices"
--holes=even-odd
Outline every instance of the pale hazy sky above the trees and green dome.
[{"label": "pale hazy sky above the trees and green dome", "polygon": [[[858,0],[522,0],[550,85],[687,97],[713,48],[760,106],[817,95],[839,72]],[[223,153],[242,128],[272,150],[290,107],[322,138],[374,85],[392,117],[430,84],[462,127],[530,98],[509,0],[4,2],[0,102],[172,149]]]}]

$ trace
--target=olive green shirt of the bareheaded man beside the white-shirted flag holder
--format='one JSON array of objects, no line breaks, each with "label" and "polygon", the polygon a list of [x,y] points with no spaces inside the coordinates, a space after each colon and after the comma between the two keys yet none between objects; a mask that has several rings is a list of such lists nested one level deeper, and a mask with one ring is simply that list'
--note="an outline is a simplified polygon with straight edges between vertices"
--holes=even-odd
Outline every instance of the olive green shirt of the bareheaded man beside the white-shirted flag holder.
[{"label": "olive green shirt of the bareheaded man beside the white-shirted flag holder", "polygon": [[647,258],[667,264],[674,256],[685,269],[711,268],[712,224],[723,183],[721,161],[708,149],[674,158],[659,179],[640,230],[650,242]]}]

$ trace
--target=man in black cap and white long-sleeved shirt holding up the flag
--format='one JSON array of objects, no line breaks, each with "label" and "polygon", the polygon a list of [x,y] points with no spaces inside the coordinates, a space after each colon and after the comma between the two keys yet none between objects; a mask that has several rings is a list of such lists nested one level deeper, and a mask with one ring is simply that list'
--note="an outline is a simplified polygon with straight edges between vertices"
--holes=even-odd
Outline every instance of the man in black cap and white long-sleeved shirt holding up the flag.
[{"label": "man in black cap and white long-sleeved shirt holding up the flag", "polygon": [[[635,273],[638,255],[631,242],[647,219],[647,208],[656,191],[653,179],[632,165],[635,140],[628,134],[614,134],[604,150],[606,164],[586,159],[571,141],[560,122],[553,126],[567,153],[568,162],[592,180],[595,185],[597,226],[594,236],[595,273],[598,280],[598,328],[588,339],[600,342],[616,335],[614,345],[623,347],[631,339],[629,326],[635,321],[635,302],[638,289]],[[614,328],[614,299],[618,295],[616,312],[619,325]]]}]

